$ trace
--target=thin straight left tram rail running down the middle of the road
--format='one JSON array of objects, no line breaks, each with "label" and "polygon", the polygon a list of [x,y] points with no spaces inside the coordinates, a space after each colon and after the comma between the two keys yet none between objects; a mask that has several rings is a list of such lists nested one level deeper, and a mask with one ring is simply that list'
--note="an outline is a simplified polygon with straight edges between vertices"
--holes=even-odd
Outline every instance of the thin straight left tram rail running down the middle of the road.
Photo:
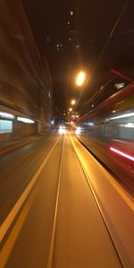
[{"label": "thin straight left tram rail running down the middle of the road", "polygon": [[62,150],[61,163],[60,163],[58,188],[57,188],[56,203],[55,203],[55,209],[54,209],[54,223],[53,223],[52,236],[51,236],[51,241],[50,241],[50,249],[49,249],[49,255],[48,255],[47,268],[52,268],[53,267],[55,228],[56,228],[57,211],[58,211],[58,203],[59,203],[59,194],[60,194],[62,169],[63,169],[64,139],[65,138],[63,137],[63,150]]}]

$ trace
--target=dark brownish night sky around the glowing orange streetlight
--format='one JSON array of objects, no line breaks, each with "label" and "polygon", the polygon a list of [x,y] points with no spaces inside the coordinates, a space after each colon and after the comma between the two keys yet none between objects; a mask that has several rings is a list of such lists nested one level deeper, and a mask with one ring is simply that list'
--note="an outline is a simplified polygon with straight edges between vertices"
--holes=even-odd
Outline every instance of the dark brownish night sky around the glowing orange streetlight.
[{"label": "dark brownish night sky around the glowing orange streetlight", "polygon": [[[125,3],[129,4],[109,38]],[[60,110],[67,109],[71,97],[80,97],[80,89],[73,82],[77,71],[83,69],[91,76],[83,88],[79,109],[90,104],[96,91],[113,79],[111,68],[134,77],[134,1],[23,0],[23,4],[39,52],[49,63],[54,103]],[[97,63],[104,46],[105,52]],[[118,80],[115,77],[108,84],[102,99],[115,91],[113,85]]]}]

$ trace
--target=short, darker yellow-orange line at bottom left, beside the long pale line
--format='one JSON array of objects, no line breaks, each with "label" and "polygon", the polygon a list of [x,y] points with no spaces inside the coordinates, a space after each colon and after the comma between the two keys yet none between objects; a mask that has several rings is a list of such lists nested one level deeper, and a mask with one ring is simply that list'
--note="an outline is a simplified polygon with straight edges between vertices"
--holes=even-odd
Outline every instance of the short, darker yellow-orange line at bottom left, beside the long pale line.
[{"label": "short, darker yellow-orange line at bottom left, beside the long pale line", "polygon": [[27,215],[29,214],[30,207],[33,204],[33,201],[35,200],[37,193],[38,193],[38,188],[34,188],[29,196],[27,203],[22,209],[19,218],[15,222],[13,226],[13,230],[11,231],[8,239],[6,240],[4,247],[2,248],[0,252],[0,268],[4,268],[4,266],[6,265],[8,261],[8,258],[13,250],[13,246],[21,232],[23,223],[25,222]]}]

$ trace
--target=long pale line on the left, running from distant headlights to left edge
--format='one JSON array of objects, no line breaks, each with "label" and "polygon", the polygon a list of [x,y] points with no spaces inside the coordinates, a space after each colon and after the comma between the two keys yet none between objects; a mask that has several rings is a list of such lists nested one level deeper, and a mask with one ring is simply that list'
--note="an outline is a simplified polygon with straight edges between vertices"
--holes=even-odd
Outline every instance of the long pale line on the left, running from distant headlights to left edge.
[{"label": "long pale line on the left, running from distant headlights to left edge", "polygon": [[35,185],[36,181],[38,180],[38,176],[42,172],[42,170],[43,170],[48,158],[50,157],[50,155],[54,151],[54,148],[56,147],[56,145],[57,145],[57,143],[58,143],[60,138],[61,137],[59,137],[56,140],[56,142],[54,143],[54,147],[52,147],[52,149],[50,150],[49,154],[46,156],[45,160],[43,161],[43,163],[38,168],[38,171],[35,173],[35,175],[30,180],[29,185],[27,186],[27,188],[25,188],[24,192],[21,194],[21,197],[16,202],[16,204],[13,206],[13,209],[11,210],[10,214],[8,214],[8,216],[6,217],[4,222],[2,223],[2,225],[0,227],[0,243],[4,239],[4,235],[6,234],[7,230],[10,228],[11,224],[13,223],[14,218],[19,213],[19,211],[21,209],[21,206],[23,205],[24,201],[29,196],[30,190],[33,188],[33,186]]}]

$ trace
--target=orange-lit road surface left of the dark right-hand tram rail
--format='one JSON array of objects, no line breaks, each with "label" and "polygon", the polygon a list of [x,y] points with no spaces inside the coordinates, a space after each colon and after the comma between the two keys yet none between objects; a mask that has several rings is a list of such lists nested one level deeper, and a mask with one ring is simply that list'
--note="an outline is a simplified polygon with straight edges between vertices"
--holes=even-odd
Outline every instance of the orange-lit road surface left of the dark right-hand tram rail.
[{"label": "orange-lit road surface left of the dark right-hand tram rail", "polygon": [[0,171],[0,268],[122,267],[70,135],[4,155]]}]

